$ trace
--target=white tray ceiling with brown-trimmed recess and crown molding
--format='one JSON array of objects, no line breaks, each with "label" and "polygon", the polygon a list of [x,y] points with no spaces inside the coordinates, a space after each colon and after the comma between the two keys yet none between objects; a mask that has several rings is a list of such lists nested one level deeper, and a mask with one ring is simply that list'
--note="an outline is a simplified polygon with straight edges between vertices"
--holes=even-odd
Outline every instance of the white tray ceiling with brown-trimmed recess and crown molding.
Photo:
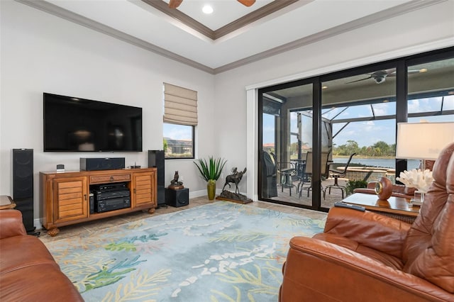
[{"label": "white tray ceiling with brown-trimmed recess and crown molding", "polygon": [[16,1],[216,74],[443,0]]}]

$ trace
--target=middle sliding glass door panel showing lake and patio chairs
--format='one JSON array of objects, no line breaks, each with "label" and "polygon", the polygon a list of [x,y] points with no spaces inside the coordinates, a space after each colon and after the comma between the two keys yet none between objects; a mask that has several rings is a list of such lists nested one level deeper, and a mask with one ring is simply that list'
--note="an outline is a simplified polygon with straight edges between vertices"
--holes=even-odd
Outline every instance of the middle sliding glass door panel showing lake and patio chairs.
[{"label": "middle sliding glass door panel showing lake and patio chairs", "polygon": [[331,208],[357,186],[395,176],[397,67],[384,65],[322,82],[322,117],[331,161],[321,206]]}]

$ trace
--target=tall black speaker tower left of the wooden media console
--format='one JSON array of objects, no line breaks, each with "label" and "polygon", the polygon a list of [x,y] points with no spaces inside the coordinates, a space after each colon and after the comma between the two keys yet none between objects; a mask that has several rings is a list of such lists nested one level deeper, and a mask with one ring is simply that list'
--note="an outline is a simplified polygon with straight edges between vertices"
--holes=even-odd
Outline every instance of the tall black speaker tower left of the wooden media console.
[{"label": "tall black speaker tower left of the wooden media console", "polygon": [[13,149],[13,201],[27,233],[33,233],[33,149]]}]

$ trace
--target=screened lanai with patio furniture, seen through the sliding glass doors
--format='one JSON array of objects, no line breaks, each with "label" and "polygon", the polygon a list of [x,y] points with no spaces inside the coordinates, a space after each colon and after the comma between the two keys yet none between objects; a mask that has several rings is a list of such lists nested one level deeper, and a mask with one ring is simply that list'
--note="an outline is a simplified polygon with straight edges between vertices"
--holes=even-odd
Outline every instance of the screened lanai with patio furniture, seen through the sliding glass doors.
[{"label": "screened lanai with patio furniture, seen through the sliding glass doors", "polygon": [[327,189],[335,181],[330,170],[345,169],[353,154],[339,186],[382,176],[395,181],[396,173],[418,167],[419,160],[396,160],[396,127],[454,121],[453,55],[436,59],[386,62],[261,91],[259,198],[331,208],[347,192]]}]

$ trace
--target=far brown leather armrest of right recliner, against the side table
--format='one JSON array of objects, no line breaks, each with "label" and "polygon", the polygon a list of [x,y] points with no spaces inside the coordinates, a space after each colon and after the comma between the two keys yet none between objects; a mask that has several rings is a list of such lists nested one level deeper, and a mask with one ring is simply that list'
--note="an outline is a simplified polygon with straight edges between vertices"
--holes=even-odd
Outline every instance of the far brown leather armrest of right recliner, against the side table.
[{"label": "far brown leather armrest of right recliner, against the side table", "polygon": [[334,207],[326,218],[324,233],[340,235],[387,255],[402,258],[410,227],[409,223],[378,213]]}]

